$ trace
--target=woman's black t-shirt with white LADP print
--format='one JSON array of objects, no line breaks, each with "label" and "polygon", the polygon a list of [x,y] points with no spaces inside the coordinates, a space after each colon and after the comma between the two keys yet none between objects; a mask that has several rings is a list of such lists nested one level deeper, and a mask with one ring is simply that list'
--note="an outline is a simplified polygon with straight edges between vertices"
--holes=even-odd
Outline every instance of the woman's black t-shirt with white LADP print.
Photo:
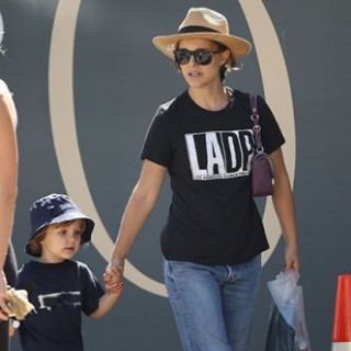
[{"label": "woman's black t-shirt with white LADP print", "polygon": [[[265,152],[284,138],[258,97]],[[168,168],[172,203],[161,234],[167,260],[236,264],[268,249],[262,220],[251,193],[254,137],[249,95],[234,90],[228,106],[207,111],[188,91],[159,106],[141,159]]]}]

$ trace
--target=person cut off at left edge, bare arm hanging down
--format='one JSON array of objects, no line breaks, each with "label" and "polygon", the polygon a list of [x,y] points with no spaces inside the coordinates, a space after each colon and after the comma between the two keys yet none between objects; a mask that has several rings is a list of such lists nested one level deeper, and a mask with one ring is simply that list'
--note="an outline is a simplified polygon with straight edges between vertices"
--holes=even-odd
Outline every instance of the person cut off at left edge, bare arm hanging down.
[{"label": "person cut off at left edge, bare arm hanging down", "polygon": [[[8,281],[14,285],[16,264],[9,245],[13,224],[18,177],[16,112],[11,93],[0,80],[0,350],[8,350]],[[8,280],[7,280],[8,278]]]}]

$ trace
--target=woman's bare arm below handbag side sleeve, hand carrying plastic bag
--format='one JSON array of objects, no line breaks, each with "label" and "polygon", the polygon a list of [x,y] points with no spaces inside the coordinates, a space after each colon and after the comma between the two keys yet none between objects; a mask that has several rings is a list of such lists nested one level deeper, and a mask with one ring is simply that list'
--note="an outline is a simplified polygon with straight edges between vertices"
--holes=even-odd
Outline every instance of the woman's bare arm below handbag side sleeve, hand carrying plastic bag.
[{"label": "woman's bare arm below handbag side sleeve, hand carrying plastic bag", "polygon": [[284,271],[299,269],[298,241],[296,228],[295,203],[284,165],[283,151],[281,148],[270,155],[274,172],[274,191],[272,195],[274,208],[282,227],[285,241],[285,267]]}]

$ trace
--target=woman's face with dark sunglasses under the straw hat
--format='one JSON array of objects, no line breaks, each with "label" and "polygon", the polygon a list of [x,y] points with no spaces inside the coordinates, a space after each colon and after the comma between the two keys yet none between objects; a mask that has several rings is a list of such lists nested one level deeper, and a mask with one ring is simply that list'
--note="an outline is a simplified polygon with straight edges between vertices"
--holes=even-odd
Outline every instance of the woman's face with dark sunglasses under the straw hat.
[{"label": "woman's face with dark sunglasses under the straw hat", "polygon": [[[182,39],[178,43],[178,50],[208,50],[211,54],[211,63],[201,65],[196,63],[194,55],[183,65],[179,65],[180,70],[191,88],[204,88],[220,83],[219,68],[227,61],[229,50],[218,52],[215,42],[208,39]],[[206,53],[208,55],[208,53]]]}]

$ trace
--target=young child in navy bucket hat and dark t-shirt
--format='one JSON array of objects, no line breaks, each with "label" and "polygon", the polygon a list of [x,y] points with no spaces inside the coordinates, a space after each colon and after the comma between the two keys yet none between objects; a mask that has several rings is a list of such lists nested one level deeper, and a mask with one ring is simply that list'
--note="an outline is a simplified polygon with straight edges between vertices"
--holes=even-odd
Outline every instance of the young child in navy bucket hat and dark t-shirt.
[{"label": "young child in navy bucket hat and dark t-shirt", "polygon": [[81,312],[103,317],[120,298],[123,283],[106,282],[105,293],[89,268],[72,260],[90,241],[94,223],[67,195],[37,200],[31,225],[25,251],[39,260],[19,272],[16,288],[27,291],[36,309],[19,328],[23,351],[82,351]]}]

